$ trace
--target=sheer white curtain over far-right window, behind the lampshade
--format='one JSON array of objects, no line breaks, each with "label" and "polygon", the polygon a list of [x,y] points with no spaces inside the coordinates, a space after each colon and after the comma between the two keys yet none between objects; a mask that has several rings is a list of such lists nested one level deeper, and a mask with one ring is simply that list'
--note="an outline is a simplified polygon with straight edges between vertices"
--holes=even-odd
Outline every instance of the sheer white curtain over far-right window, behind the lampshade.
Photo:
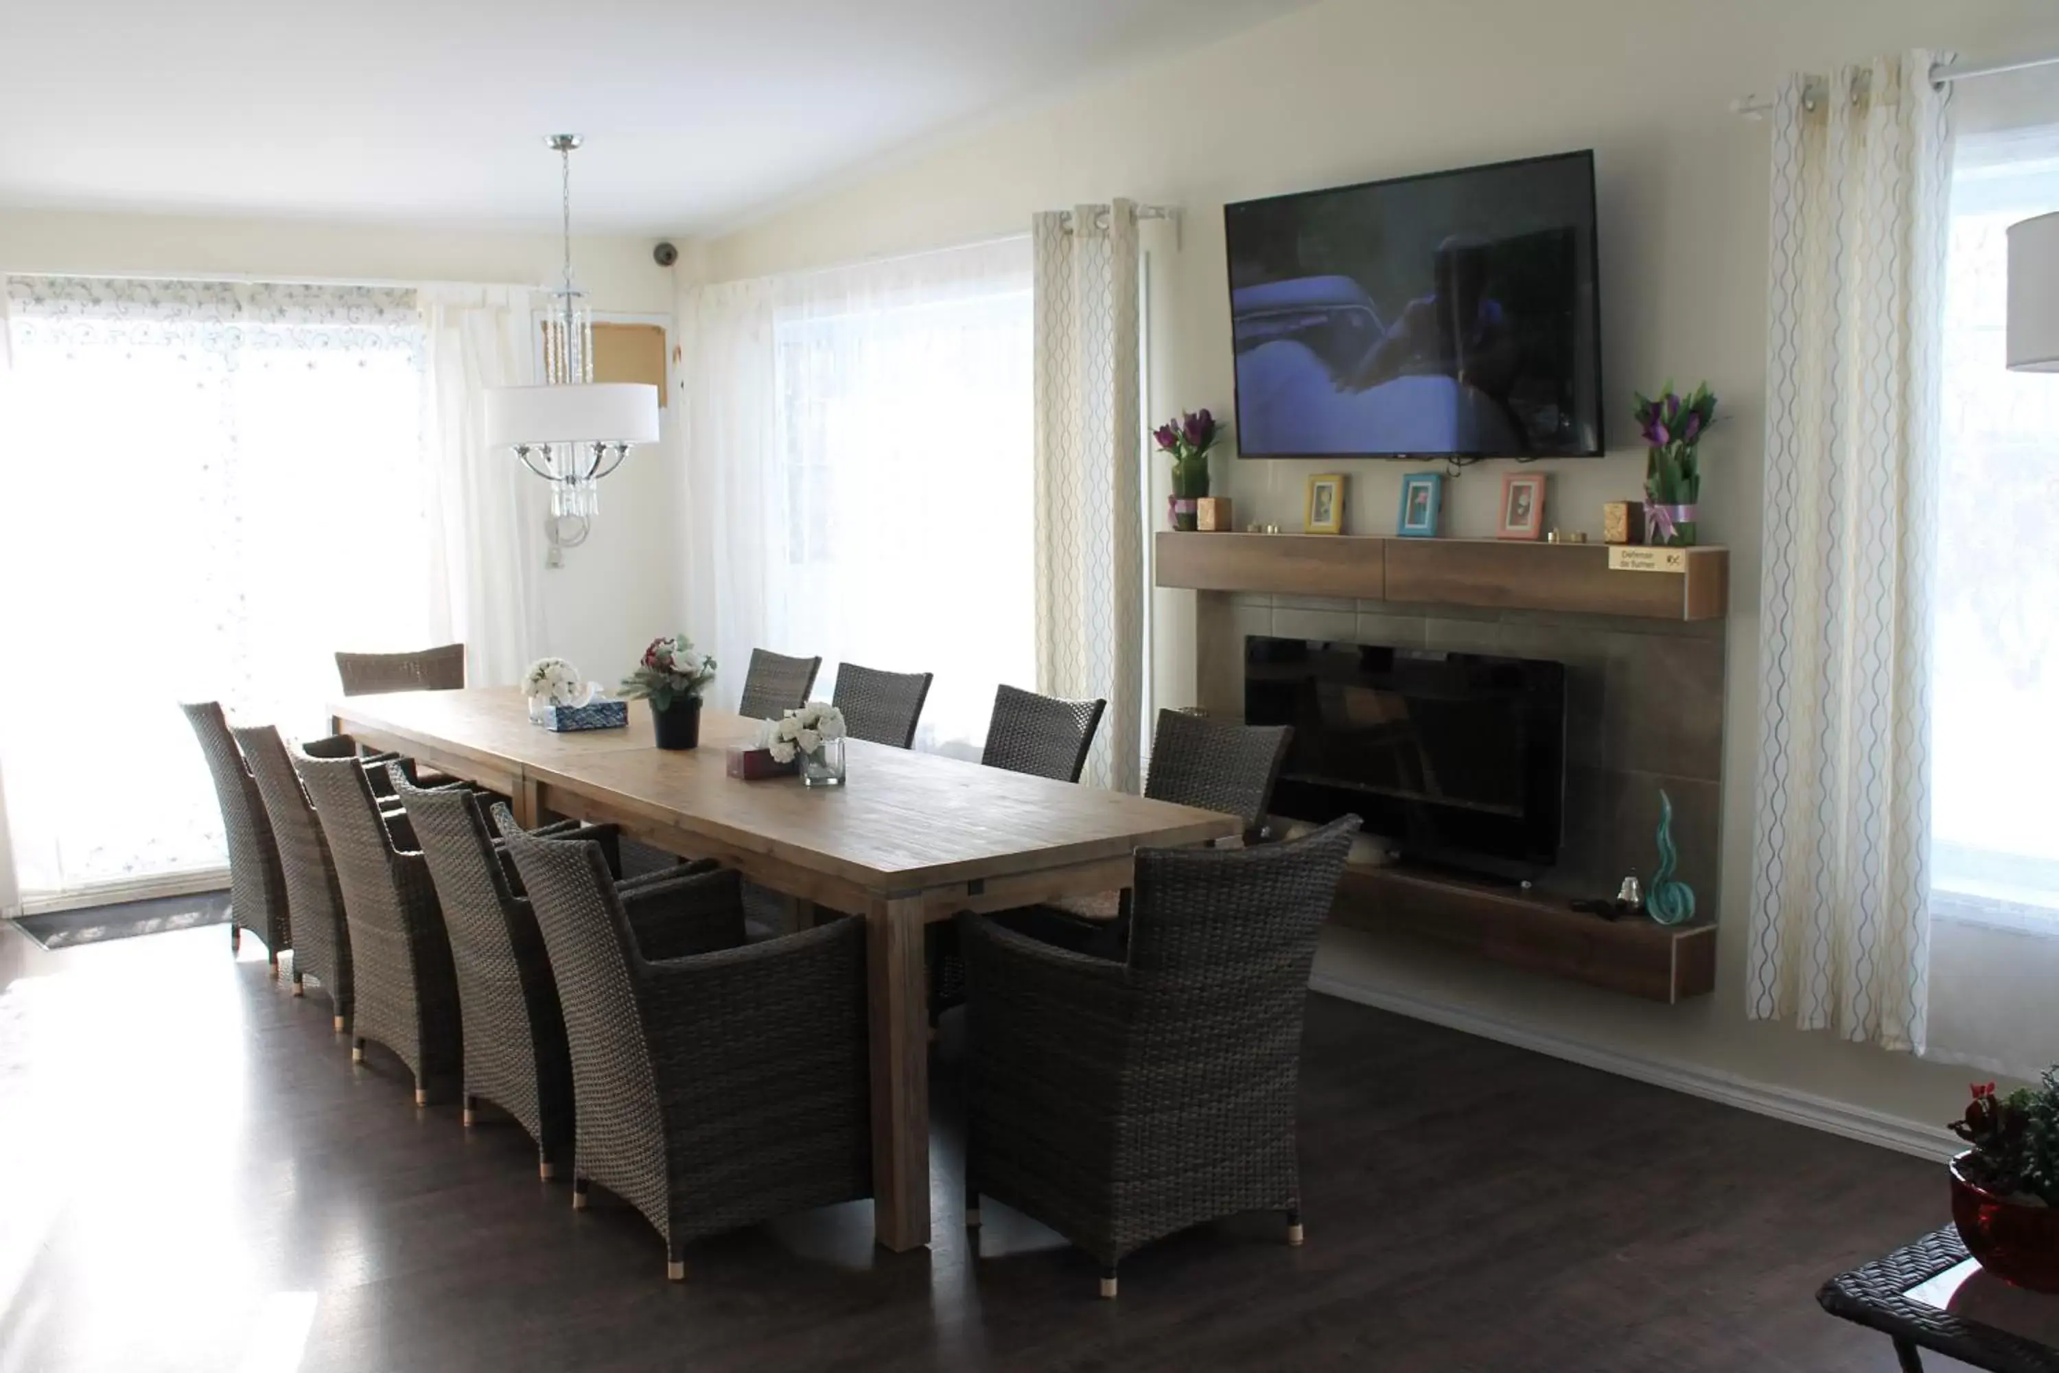
[{"label": "sheer white curtain over far-right window, behind the lampshade", "polygon": [[2059,128],[1964,138],[1952,175],[1925,1054],[2059,1062],[2059,377],[2012,373],[2008,239],[2059,210]]}]

